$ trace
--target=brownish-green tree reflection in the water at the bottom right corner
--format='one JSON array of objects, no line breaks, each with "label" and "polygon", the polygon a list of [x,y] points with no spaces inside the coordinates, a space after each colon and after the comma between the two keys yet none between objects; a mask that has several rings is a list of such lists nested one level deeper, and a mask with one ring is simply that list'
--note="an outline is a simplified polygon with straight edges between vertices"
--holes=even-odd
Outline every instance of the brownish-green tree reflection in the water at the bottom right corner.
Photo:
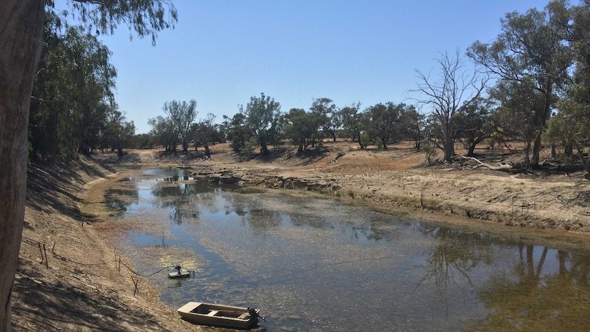
[{"label": "brownish-green tree reflection in the water at the bottom right corner", "polygon": [[[541,247],[537,246],[537,253]],[[524,331],[587,331],[590,325],[590,265],[585,255],[520,243],[519,257],[509,272],[493,277],[479,292],[489,316],[477,329]],[[544,272],[548,253],[557,268]],[[535,256],[538,256],[535,260]],[[547,268],[546,270],[550,270]]]}]

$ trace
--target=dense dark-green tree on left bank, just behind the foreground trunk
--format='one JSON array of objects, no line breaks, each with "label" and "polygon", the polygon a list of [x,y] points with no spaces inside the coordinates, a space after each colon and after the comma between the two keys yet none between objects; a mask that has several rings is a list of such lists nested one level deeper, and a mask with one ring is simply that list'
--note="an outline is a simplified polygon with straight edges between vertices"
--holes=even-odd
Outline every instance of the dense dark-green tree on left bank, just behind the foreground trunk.
[{"label": "dense dark-green tree on left bank, just behind the foreground trunk", "polygon": [[114,107],[115,77],[105,45],[48,13],[29,112],[29,157],[90,153]]}]

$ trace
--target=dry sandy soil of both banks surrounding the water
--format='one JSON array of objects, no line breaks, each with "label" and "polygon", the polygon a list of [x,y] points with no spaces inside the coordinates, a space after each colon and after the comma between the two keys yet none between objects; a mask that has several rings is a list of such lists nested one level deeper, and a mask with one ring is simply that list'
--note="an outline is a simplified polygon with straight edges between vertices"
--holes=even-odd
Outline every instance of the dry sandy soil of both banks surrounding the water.
[{"label": "dry sandy soil of both banks surrounding the water", "polygon": [[[522,159],[509,151],[479,152],[490,164]],[[190,167],[219,181],[305,188],[456,227],[589,246],[590,187],[576,170],[509,173],[471,169],[474,164],[466,162],[425,167],[425,153],[410,144],[359,151],[352,142],[329,143],[303,156],[283,147],[270,157],[248,159],[219,144],[212,147],[211,159],[199,151],[158,150],[96,158],[36,164],[29,170],[13,296],[15,331],[207,330],[183,322],[175,308],[162,305],[129,261],[112,249],[105,232],[98,231],[109,218],[103,190],[108,179],[118,176],[119,164]]]}]

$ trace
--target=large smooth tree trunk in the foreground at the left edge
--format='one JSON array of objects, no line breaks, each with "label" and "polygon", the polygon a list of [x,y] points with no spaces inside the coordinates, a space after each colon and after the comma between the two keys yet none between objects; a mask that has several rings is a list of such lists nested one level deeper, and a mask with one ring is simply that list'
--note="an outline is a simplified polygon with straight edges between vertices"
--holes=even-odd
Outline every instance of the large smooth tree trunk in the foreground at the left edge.
[{"label": "large smooth tree trunk in the foreground at the left edge", "polygon": [[12,283],[25,216],[29,103],[43,13],[43,0],[0,0],[0,331],[11,329]]}]

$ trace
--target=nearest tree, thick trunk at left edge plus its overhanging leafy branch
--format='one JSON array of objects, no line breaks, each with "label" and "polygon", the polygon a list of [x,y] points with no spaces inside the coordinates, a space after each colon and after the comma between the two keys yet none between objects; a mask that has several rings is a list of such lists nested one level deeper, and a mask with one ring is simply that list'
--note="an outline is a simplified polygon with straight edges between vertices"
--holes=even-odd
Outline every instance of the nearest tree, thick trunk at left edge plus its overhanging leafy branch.
[{"label": "nearest tree, thick trunk at left edge plus its overhanging leafy branch", "polygon": [[[88,31],[103,34],[124,23],[155,42],[157,31],[177,21],[168,0],[72,2]],[[44,12],[52,10],[53,1],[3,0],[0,7],[0,329],[10,331],[10,294],[25,214],[29,101],[42,49]]]}]

